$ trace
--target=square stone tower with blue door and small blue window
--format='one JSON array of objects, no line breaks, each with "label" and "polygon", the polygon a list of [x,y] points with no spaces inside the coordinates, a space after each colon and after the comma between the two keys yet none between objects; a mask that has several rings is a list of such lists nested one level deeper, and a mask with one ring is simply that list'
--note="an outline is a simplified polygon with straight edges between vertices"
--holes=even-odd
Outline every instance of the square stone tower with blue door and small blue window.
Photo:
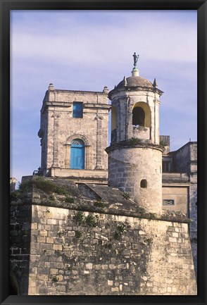
[{"label": "square stone tower with blue door and small blue window", "polygon": [[108,88],[102,92],[49,85],[41,109],[44,176],[107,183]]}]

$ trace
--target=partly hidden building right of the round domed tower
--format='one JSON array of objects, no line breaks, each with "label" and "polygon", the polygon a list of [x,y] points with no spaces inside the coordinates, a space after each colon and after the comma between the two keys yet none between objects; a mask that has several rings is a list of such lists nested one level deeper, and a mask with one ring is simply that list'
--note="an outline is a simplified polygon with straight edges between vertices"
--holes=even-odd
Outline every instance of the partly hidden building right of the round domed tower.
[{"label": "partly hidden building right of the round domed tower", "polygon": [[163,152],[163,209],[182,211],[189,225],[194,265],[197,260],[197,142],[170,151],[170,137],[161,136]]}]

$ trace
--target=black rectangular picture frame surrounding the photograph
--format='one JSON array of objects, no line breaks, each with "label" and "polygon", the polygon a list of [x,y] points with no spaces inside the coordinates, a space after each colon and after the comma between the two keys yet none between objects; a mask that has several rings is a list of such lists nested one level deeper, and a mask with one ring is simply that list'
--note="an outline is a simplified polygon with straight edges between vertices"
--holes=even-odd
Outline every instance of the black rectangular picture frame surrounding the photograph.
[{"label": "black rectangular picture frame surrounding the photograph", "polygon": [[[198,14],[198,295],[12,296],[9,295],[10,11],[11,10],[197,10]],[[206,282],[206,88],[207,0],[0,0],[0,302],[9,304],[207,304]]]}]

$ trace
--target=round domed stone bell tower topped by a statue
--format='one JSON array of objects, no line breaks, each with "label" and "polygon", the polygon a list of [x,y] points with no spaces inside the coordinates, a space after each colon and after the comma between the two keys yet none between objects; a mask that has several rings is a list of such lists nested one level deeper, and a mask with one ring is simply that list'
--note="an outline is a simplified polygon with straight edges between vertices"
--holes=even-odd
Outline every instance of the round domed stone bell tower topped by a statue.
[{"label": "round domed stone bell tower topped by a statue", "polygon": [[130,194],[152,213],[162,211],[162,151],[159,106],[163,92],[139,76],[134,53],[132,76],[109,92],[111,145],[108,153],[108,185]]}]

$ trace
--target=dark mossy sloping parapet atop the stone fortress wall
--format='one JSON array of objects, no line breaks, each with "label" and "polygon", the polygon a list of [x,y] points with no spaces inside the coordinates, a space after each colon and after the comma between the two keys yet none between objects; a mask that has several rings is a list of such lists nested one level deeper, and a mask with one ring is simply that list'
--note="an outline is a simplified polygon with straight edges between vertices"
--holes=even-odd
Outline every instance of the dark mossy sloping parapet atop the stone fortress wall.
[{"label": "dark mossy sloping parapet atop the stone fortress wall", "polygon": [[[35,184],[35,180],[37,180],[37,182],[39,181],[39,187],[41,187],[41,182],[44,186],[44,180],[49,180],[49,192],[45,192],[44,190],[37,188],[38,184]],[[114,189],[113,187],[101,185],[90,186],[87,184],[85,186],[89,189],[89,192],[85,192],[85,188],[77,188],[74,182],[63,179],[48,179],[38,178],[38,176],[31,176],[27,177],[24,181],[27,181],[30,189],[28,192],[13,192],[13,196],[11,197],[11,206],[53,206],[58,208],[67,208],[70,210],[88,211],[92,213],[103,213],[116,216],[130,216],[134,218],[146,218],[170,222],[173,221],[177,223],[192,222],[192,220],[180,212],[163,211],[162,214],[151,213],[144,207],[138,206],[131,199],[125,199],[125,194],[120,192],[119,189]],[[58,194],[56,192],[57,187],[59,189],[61,188],[61,191],[64,192]],[[14,193],[16,193],[16,196]],[[70,199],[72,198],[73,200],[69,203],[67,202],[67,197],[70,197]],[[99,207],[100,204],[101,206]]]}]

